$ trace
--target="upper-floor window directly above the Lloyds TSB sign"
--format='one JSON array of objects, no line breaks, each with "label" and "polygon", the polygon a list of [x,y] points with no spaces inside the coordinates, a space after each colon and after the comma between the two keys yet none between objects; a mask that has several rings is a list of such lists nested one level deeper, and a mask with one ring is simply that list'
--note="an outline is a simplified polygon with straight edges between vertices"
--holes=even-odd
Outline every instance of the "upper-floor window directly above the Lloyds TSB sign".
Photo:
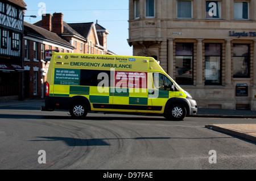
[{"label": "upper-floor window directly above the Lloyds TSB sign", "polygon": [[234,19],[249,19],[248,2],[234,2]]}]

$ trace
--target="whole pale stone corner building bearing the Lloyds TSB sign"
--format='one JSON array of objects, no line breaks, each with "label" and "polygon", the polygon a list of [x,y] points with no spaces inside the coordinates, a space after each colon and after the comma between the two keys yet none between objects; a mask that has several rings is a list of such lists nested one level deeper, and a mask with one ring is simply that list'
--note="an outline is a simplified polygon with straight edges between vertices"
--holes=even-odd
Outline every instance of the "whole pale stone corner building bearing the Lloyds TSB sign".
[{"label": "whole pale stone corner building bearing the Lloyds TSB sign", "polygon": [[255,9],[255,0],[129,0],[127,41],[199,107],[256,110]]}]

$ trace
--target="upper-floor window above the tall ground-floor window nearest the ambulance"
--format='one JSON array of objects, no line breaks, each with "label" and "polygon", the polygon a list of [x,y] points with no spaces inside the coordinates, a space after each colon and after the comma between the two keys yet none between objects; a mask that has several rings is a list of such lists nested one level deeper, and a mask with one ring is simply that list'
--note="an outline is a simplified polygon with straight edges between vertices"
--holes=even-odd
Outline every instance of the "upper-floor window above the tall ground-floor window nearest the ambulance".
[{"label": "upper-floor window above the tall ground-floor window nearest the ambulance", "polygon": [[192,18],[191,1],[177,1],[177,18]]}]

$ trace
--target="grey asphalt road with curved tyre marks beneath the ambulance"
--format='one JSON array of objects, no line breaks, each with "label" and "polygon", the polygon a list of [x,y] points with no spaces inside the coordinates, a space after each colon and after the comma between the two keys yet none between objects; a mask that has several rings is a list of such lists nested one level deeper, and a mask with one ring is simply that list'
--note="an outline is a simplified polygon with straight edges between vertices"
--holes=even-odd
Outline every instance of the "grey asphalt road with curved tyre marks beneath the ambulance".
[{"label": "grey asphalt road with curved tyre marks beneath the ambulance", "polygon": [[[255,119],[163,117],[0,109],[0,169],[256,169],[256,145],[205,128]],[[39,150],[46,163],[39,163]],[[210,150],[216,163],[209,163]]]}]

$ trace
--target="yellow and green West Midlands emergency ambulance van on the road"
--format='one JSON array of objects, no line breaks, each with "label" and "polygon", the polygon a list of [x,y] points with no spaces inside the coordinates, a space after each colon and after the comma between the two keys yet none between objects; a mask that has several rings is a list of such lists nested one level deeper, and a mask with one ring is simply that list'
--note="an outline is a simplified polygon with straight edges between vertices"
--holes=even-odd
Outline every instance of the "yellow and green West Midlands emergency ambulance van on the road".
[{"label": "yellow and green West Midlands emergency ambulance van on the road", "polygon": [[45,106],[84,119],[88,112],[144,113],[183,120],[196,101],[152,57],[52,52]]}]

